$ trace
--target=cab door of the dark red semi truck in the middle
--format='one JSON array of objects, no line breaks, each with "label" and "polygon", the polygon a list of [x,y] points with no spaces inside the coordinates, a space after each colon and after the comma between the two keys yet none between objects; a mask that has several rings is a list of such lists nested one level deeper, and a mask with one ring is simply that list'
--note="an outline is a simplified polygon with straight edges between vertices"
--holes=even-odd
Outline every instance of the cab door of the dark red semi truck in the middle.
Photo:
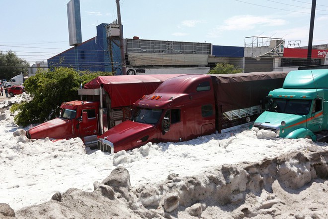
[{"label": "cab door of the dark red semi truck in the middle", "polygon": [[184,141],[183,122],[181,120],[181,109],[169,109],[162,119],[160,133],[162,142]]}]

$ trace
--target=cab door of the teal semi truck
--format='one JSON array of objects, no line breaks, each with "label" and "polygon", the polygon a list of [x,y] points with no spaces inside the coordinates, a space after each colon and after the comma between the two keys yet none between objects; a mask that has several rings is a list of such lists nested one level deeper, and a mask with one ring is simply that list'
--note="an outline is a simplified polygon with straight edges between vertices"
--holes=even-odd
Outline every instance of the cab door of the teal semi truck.
[{"label": "cab door of the teal semi truck", "polygon": [[311,119],[308,122],[308,128],[312,132],[323,130],[324,114],[323,114],[323,100],[315,99],[313,101]]}]

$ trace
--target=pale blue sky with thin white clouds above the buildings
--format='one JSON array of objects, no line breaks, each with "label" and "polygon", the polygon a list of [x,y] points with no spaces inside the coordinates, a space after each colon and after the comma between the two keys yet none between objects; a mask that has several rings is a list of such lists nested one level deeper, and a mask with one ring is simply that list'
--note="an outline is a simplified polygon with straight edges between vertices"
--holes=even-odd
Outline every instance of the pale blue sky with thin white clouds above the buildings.
[{"label": "pale blue sky with thin white clouds above the buildings", "polygon": [[[69,0],[0,0],[0,51],[30,64],[69,49]],[[120,0],[124,38],[244,46],[245,37],[308,45],[312,0]],[[313,45],[328,43],[328,1],[317,0]],[[80,0],[82,41],[117,19],[115,0]],[[286,45],[285,45],[286,46]]]}]

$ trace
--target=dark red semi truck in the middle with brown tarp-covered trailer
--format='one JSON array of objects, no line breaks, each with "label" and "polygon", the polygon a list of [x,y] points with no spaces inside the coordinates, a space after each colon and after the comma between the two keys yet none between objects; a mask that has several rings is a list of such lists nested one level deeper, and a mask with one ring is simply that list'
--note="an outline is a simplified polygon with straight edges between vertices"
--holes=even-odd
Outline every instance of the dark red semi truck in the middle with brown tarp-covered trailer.
[{"label": "dark red semi truck in the middle with brown tarp-covered trailer", "polygon": [[131,119],[101,135],[98,149],[112,153],[147,142],[187,141],[253,121],[265,109],[267,93],[281,87],[286,75],[187,74],[168,79],[154,93],[140,96]]}]

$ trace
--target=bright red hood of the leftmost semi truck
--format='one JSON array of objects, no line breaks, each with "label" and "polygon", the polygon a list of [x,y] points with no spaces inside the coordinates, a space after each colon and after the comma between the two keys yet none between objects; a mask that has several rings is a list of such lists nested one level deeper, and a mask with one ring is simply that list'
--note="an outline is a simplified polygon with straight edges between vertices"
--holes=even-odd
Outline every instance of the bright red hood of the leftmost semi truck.
[{"label": "bright red hood of the leftmost semi truck", "polygon": [[70,138],[72,134],[72,121],[63,118],[55,118],[39,124],[26,132],[26,136],[31,139],[41,138]]}]

